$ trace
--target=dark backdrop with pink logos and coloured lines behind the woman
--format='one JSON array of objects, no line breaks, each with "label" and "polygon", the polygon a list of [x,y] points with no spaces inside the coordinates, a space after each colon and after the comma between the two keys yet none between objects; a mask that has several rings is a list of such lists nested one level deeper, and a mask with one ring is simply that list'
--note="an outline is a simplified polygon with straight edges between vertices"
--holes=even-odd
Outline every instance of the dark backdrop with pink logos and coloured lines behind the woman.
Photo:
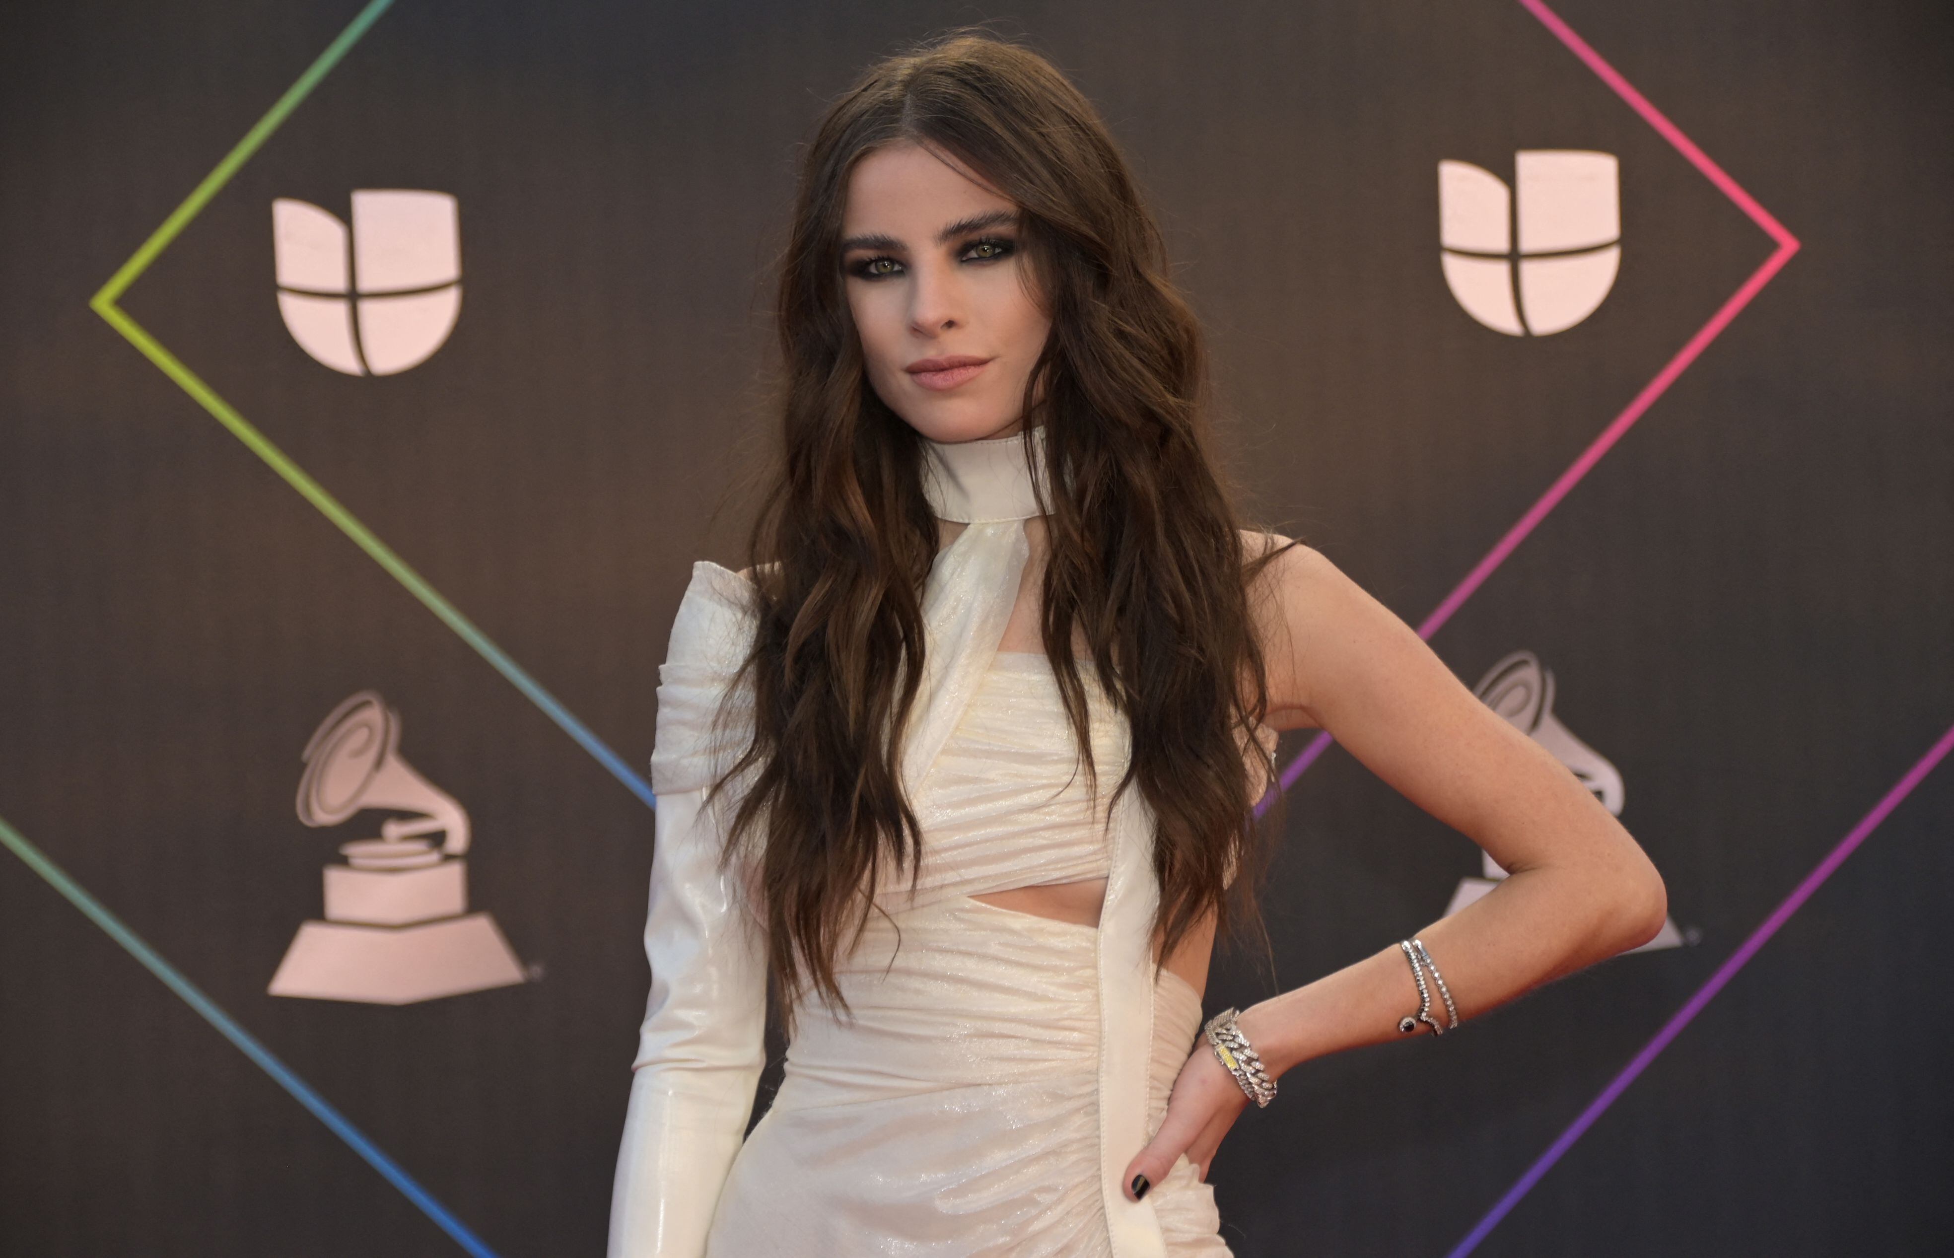
[{"label": "dark backdrop with pink logos and coloured lines behind the woman", "polygon": [[[797,145],[991,20],[1131,154],[1251,514],[1669,881],[1286,1078],[1235,1250],[1944,1252],[1948,10],[1553,2],[6,6],[0,1250],[600,1252]],[[1282,758],[1282,986],[1499,873]]]}]

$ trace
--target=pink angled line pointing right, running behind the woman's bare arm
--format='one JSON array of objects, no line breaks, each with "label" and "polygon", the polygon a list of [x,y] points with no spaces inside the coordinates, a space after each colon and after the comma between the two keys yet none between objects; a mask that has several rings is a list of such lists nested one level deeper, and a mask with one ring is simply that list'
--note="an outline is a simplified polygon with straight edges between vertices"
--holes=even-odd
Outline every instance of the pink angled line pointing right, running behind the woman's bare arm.
[{"label": "pink angled line pointing right, running behind the woman's bare arm", "polygon": [[[1579,57],[1591,70],[1594,70],[1594,74],[1600,76],[1600,80],[1608,84],[1608,88],[1612,88],[1616,96],[1628,102],[1628,105],[1635,113],[1639,113],[1643,121],[1655,127],[1655,131],[1665,141],[1669,141],[1669,145],[1677,152],[1688,158],[1688,162],[1696,166],[1696,170],[1700,170],[1706,180],[1710,180],[1725,197],[1735,201],[1737,209],[1747,213],[1753,223],[1757,223],[1772,240],[1778,242],[1778,248],[1772,250],[1768,258],[1764,258],[1763,266],[1751,272],[1751,277],[1745,279],[1721,307],[1718,307],[1716,314],[1710,316],[1710,322],[1698,328],[1696,336],[1684,342],[1684,346],[1675,354],[1675,357],[1671,357],[1663,365],[1663,369],[1655,373],[1655,379],[1651,379],[1647,385],[1641,387],[1641,393],[1637,393],[1634,400],[1630,400],[1630,404],[1622,408],[1622,414],[1614,416],[1614,420],[1606,428],[1602,428],[1600,436],[1594,438],[1589,443],[1589,447],[1581,451],[1581,455],[1567,467],[1567,471],[1555,477],[1553,484],[1548,486],[1548,492],[1544,492],[1540,500],[1534,502],[1534,506],[1530,506],[1526,514],[1520,516],[1520,520],[1510,529],[1507,529],[1507,535],[1501,537],[1499,543],[1485,553],[1485,559],[1473,565],[1471,572],[1466,574],[1466,580],[1454,586],[1452,592],[1446,594],[1444,600],[1440,600],[1438,608],[1434,608],[1432,613],[1426,615],[1424,621],[1419,625],[1419,637],[1424,641],[1430,641],[1430,637],[1438,633],[1438,629],[1448,619],[1452,619],[1452,613],[1458,611],[1466,604],[1466,600],[1471,598],[1473,592],[1485,584],[1485,580],[1493,574],[1493,570],[1499,568],[1499,565],[1507,563],[1507,557],[1512,555],[1512,551],[1518,549],[1522,541],[1526,541],[1526,535],[1532,533],[1540,525],[1540,522],[1548,518],[1548,512],[1559,506],[1561,498],[1565,498],[1573,490],[1573,486],[1579,484],[1581,479],[1589,475],[1589,469],[1600,463],[1600,457],[1608,453],[1614,447],[1614,443],[1622,440],[1622,434],[1634,428],[1635,420],[1639,420],[1649,410],[1649,406],[1653,406],[1655,400],[1669,391],[1669,385],[1673,385],[1677,377],[1682,375],[1682,371],[1686,371],[1688,365],[1694,363],[1696,357],[1710,348],[1710,342],[1714,342],[1718,336],[1723,334],[1723,328],[1727,328],[1729,322],[1737,318],[1743,307],[1751,305],[1751,299],[1757,297],[1766,283],[1770,283],[1770,277],[1776,275],[1784,268],[1784,264],[1792,260],[1792,254],[1796,254],[1800,248],[1798,236],[1788,232],[1784,225],[1770,215],[1768,209],[1757,203],[1757,197],[1747,193],[1737,184],[1737,180],[1729,178],[1729,174],[1721,166],[1710,160],[1708,152],[1698,148],[1690,137],[1682,135],[1680,127],[1669,121],[1669,117],[1665,117],[1661,109],[1651,105],[1647,96],[1637,92],[1632,82],[1622,78],[1622,72],[1610,66],[1602,59],[1602,55],[1596,53],[1585,39],[1581,39],[1581,35],[1577,35],[1571,25],[1561,21],[1561,18],[1553,10],[1542,4],[1542,0],[1518,0],[1518,2],[1522,8],[1526,8],[1526,12],[1538,18],[1550,31],[1553,31],[1553,35],[1561,43],[1565,43],[1575,57]],[[1303,752],[1296,760],[1292,760],[1288,768],[1282,770],[1282,777],[1278,779],[1276,791],[1280,793],[1294,787],[1296,779],[1301,777],[1303,772],[1307,772],[1309,766],[1317,762],[1323,750],[1329,748],[1331,740],[1333,736],[1327,731],[1311,738],[1309,746],[1305,746]],[[1254,815],[1260,817],[1262,813],[1268,811],[1274,799],[1270,795],[1264,795],[1262,803],[1256,805]]]}]

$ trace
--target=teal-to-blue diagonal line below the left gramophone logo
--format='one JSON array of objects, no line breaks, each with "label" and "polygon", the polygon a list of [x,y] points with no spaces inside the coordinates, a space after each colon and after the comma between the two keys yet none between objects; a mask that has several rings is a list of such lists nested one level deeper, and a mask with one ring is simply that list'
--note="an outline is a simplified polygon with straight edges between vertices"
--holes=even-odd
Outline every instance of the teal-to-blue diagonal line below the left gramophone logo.
[{"label": "teal-to-blue diagonal line below the left gramophone logo", "polygon": [[6,844],[14,856],[27,863],[29,869],[47,879],[61,895],[68,899],[70,904],[82,910],[88,920],[100,926],[111,940],[123,945],[123,949],[143,963],[143,967],[162,979],[162,985],[176,992],[184,1004],[197,1010],[205,1022],[209,1022],[217,1031],[229,1039],[244,1057],[250,1057],[260,1070],[270,1074],[279,1088],[289,1092],[293,1100],[305,1106],[313,1117],[324,1123],[336,1137],[346,1141],[354,1153],[365,1158],[367,1166],[377,1170],[381,1178],[401,1190],[401,1194],[420,1207],[424,1215],[434,1219],[434,1225],[447,1233],[455,1244],[465,1248],[475,1258],[496,1258],[496,1252],[483,1244],[483,1240],[467,1229],[461,1219],[453,1217],[446,1205],[434,1199],[434,1195],[422,1188],[410,1174],[401,1170],[401,1164],[389,1158],[373,1141],[365,1137],[358,1127],[354,1127],[344,1113],[332,1108],[324,1096],[320,1096],[309,1082],[291,1072],[291,1067],[281,1063],[272,1055],[258,1039],[252,1037],[242,1026],[236,1024],[231,1014],[217,1008],[217,1002],[205,996],[195,983],[186,979],[182,971],[162,959],[162,955],[143,942],[139,934],[121,924],[113,912],[109,912],[102,901],[88,895],[88,891],[76,883],[68,873],[51,861],[47,854],[27,842],[27,836],[16,830],[0,817],[0,844]]}]

